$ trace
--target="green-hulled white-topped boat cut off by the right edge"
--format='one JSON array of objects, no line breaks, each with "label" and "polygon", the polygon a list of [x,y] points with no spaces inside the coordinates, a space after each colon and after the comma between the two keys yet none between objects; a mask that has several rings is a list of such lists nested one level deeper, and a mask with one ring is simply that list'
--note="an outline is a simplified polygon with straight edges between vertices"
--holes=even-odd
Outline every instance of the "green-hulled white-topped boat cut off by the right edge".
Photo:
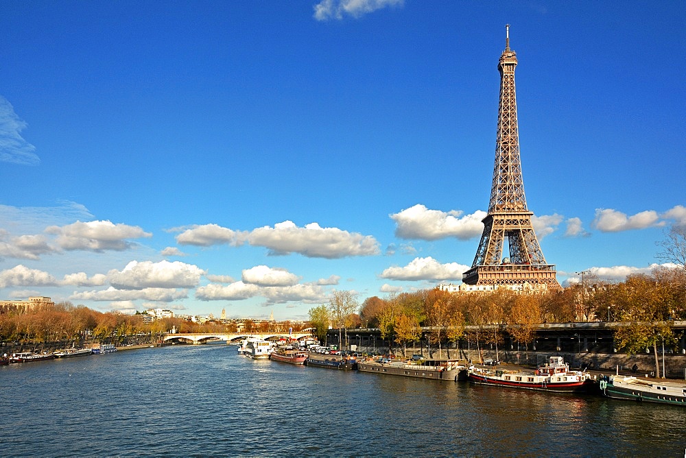
[{"label": "green-hulled white-topped boat cut off by the right edge", "polygon": [[674,382],[652,382],[635,376],[601,376],[600,394],[607,398],[659,402],[686,407],[686,385]]}]

